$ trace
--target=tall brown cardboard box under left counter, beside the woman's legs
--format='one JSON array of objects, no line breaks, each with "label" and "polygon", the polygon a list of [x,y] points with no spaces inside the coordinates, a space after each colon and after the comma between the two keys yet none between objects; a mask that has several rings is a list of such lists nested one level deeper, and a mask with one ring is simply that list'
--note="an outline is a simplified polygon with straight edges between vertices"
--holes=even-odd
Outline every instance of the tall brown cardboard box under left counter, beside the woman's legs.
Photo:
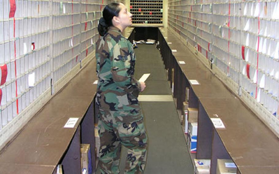
[{"label": "tall brown cardboard box under left counter, beside the woman's legs", "polygon": [[90,144],[81,144],[81,168],[82,174],[92,174],[92,160]]}]

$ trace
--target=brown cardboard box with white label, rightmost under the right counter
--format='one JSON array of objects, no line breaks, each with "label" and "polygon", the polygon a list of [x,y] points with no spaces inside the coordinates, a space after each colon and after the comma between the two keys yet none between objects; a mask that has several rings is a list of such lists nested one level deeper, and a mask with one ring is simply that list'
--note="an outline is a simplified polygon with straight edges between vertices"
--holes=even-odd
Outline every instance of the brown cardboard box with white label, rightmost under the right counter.
[{"label": "brown cardboard box with white label, rightmost under the right counter", "polygon": [[231,159],[217,159],[216,174],[236,174],[237,168]]}]

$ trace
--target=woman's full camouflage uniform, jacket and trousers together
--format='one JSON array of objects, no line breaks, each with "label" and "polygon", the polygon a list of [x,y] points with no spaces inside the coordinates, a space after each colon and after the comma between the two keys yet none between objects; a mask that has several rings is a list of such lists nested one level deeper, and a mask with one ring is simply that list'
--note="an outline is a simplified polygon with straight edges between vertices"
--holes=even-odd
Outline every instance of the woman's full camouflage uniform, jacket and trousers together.
[{"label": "woman's full camouflage uniform, jacket and trousers together", "polygon": [[96,60],[101,173],[119,173],[121,144],[128,148],[125,173],[143,173],[147,136],[137,99],[140,83],[133,77],[133,46],[111,26],[97,41]]}]

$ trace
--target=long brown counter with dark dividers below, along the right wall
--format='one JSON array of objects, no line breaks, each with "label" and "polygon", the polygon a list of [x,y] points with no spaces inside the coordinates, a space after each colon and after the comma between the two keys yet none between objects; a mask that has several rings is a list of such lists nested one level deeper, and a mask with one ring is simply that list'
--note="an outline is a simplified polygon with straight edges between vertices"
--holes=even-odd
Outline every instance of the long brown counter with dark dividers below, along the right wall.
[{"label": "long brown counter with dark dividers below, along the right wall", "polygon": [[[191,154],[192,160],[211,159],[212,174],[216,173],[218,158],[232,159],[237,173],[277,173],[279,142],[276,136],[168,29],[158,30],[158,40],[170,81],[174,68],[173,95],[177,109],[182,109],[185,88],[189,87],[189,107],[199,110],[197,153]],[[172,52],[171,48],[178,51]],[[181,60],[186,65],[179,64]],[[197,78],[201,85],[190,85],[191,78]],[[213,127],[211,118],[216,115],[226,129]]]}]

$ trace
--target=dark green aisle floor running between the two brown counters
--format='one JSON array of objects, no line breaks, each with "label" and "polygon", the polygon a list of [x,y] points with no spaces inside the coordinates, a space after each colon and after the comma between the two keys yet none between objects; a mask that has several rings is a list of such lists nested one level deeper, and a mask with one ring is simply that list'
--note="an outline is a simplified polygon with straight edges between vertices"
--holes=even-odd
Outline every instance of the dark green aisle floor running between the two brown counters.
[{"label": "dark green aisle floor running between the two brown counters", "polygon": [[[140,106],[144,115],[149,139],[145,174],[193,174],[193,166],[187,150],[179,116],[172,99],[163,62],[155,45],[138,45],[135,77],[151,73],[146,89],[140,93]],[[156,96],[148,96],[156,95]],[[163,97],[165,96],[165,97]],[[166,97],[167,96],[167,97]],[[161,101],[152,101],[156,97]],[[140,97],[139,97],[140,98]],[[145,101],[145,99],[151,101]],[[122,148],[120,173],[125,165],[126,148]],[[100,173],[97,171],[97,174]]]}]

